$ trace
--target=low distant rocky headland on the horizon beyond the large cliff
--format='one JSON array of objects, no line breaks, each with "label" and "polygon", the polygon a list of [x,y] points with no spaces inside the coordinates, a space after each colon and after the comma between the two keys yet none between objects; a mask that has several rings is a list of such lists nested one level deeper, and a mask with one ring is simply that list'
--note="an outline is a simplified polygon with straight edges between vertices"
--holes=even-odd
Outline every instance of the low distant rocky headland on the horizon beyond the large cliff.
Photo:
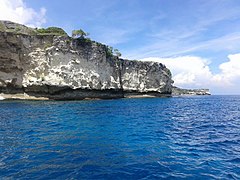
[{"label": "low distant rocky headland on the horizon beyond the large cliff", "polygon": [[209,89],[182,89],[173,86],[172,87],[173,96],[182,96],[182,95],[211,95]]}]

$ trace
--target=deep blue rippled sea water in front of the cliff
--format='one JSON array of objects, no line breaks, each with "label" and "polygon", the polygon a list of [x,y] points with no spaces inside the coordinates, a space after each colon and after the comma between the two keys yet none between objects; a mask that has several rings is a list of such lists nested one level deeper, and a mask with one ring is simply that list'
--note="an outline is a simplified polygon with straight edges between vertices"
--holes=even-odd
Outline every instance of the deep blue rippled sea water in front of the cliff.
[{"label": "deep blue rippled sea water in front of the cliff", "polygon": [[0,179],[240,179],[240,96],[1,101]]}]

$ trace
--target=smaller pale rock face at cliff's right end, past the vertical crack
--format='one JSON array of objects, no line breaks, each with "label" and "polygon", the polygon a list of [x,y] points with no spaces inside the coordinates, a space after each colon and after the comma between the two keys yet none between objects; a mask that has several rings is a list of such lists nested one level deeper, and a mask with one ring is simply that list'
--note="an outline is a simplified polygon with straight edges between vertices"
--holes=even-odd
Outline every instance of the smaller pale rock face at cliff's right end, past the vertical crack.
[{"label": "smaller pale rock face at cliff's right end, past the vertical crack", "polygon": [[171,73],[160,63],[125,60],[122,70],[123,89],[137,92],[171,92]]}]

